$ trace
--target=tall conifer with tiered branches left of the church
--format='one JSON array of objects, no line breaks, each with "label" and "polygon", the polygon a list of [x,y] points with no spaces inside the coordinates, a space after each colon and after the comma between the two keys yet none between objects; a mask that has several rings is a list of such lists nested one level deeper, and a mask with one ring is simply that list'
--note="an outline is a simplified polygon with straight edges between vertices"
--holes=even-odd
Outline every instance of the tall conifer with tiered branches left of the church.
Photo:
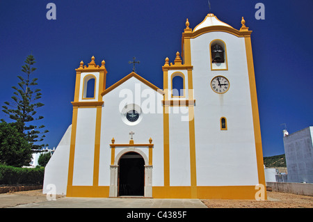
[{"label": "tall conifer with tiered branches left of the church", "polygon": [[[40,150],[41,148],[47,146],[47,144],[38,144],[43,141],[45,138],[45,133],[49,132],[48,130],[42,131],[45,127],[40,125],[29,124],[34,120],[41,120],[43,116],[35,115],[38,109],[41,106],[44,106],[41,102],[37,102],[41,98],[40,89],[34,89],[33,86],[37,86],[36,82],[38,79],[34,78],[31,80],[31,74],[36,70],[33,67],[35,63],[35,58],[33,55],[29,55],[26,58],[25,65],[22,66],[22,72],[26,74],[26,78],[22,76],[17,76],[20,80],[18,87],[13,86],[15,90],[13,93],[13,102],[4,102],[7,106],[2,106],[3,112],[8,114],[10,119],[15,120],[14,125],[17,128],[18,132],[24,135],[27,141],[32,145],[32,150]],[[8,108],[10,106],[11,109]]]}]

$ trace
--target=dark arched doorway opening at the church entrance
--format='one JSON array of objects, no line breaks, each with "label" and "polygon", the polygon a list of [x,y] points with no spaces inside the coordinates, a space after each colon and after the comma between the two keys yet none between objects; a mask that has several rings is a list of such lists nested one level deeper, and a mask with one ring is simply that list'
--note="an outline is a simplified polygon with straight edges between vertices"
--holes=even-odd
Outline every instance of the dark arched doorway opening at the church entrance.
[{"label": "dark arched doorway opening at the church entrance", "polygon": [[137,152],[120,157],[119,196],[144,196],[145,161]]}]

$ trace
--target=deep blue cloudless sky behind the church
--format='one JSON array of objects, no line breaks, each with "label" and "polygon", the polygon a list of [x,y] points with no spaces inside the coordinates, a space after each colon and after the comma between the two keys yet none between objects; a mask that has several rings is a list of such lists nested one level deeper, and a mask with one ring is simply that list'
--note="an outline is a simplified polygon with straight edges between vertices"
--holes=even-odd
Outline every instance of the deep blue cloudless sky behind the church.
[{"label": "deep blue cloudless sky behind the church", "polygon": [[[46,18],[47,3],[56,4],[56,20]],[[255,19],[264,3],[265,19]],[[289,133],[313,125],[313,1],[211,0],[211,13],[235,29],[241,17],[252,30],[259,116],[264,156],[283,154],[281,124]],[[163,88],[161,66],[181,51],[186,18],[193,29],[209,13],[207,0],[0,1],[0,104],[12,101],[26,56],[33,54],[42,89],[38,125],[49,129],[46,143],[58,145],[72,122],[75,68],[79,62],[106,61],[106,87],[136,71]],[[8,120],[5,113],[0,118]]]}]

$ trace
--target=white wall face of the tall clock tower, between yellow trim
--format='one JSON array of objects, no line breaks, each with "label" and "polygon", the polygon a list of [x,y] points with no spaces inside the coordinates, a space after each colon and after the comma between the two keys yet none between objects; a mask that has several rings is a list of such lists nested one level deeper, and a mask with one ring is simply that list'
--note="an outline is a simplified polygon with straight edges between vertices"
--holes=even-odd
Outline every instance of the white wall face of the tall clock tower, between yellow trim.
[{"label": "white wall face of the tall clock tower, between yellow trim", "polygon": [[[209,43],[223,40],[228,70],[211,71]],[[255,138],[244,38],[211,32],[191,39],[195,106],[195,147],[198,186],[258,184]],[[211,90],[211,79],[230,81],[225,94]],[[227,130],[220,130],[220,118]]]}]

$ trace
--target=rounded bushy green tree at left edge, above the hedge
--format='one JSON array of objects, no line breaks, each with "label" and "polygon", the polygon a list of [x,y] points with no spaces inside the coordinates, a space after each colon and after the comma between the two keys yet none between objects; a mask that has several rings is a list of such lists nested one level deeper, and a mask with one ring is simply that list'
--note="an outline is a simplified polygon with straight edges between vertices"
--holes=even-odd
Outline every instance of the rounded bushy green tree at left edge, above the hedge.
[{"label": "rounded bushy green tree at left edge, above the hedge", "polygon": [[12,124],[0,123],[0,164],[9,166],[29,166],[31,144]]}]

